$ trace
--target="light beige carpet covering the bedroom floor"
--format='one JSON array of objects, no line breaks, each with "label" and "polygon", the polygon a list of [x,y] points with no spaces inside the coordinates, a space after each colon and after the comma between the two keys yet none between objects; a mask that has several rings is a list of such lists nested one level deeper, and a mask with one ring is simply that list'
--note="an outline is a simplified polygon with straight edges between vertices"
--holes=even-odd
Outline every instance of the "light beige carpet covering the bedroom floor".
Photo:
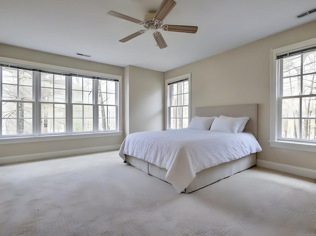
[{"label": "light beige carpet covering the bedroom floor", "polygon": [[118,151],[0,166],[0,236],[315,236],[316,184],[254,167],[190,194]]}]

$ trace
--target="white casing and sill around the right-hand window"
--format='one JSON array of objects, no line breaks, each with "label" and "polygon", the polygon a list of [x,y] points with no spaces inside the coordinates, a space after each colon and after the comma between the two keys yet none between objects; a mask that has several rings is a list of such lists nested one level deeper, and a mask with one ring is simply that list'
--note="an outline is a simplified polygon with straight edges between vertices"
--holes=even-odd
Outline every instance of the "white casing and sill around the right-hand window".
[{"label": "white casing and sill around the right-hand window", "polygon": [[278,140],[278,120],[281,115],[278,96],[280,94],[279,81],[278,81],[278,71],[276,56],[278,54],[287,53],[291,51],[297,51],[308,47],[316,46],[316,38],[292,44],[289,46],[279,47],[271,50],[271,75],[270,75],[270,146],[300,150],[300,151],[311,151],[316,152],[316,143],[311,142],[293,142]]}]

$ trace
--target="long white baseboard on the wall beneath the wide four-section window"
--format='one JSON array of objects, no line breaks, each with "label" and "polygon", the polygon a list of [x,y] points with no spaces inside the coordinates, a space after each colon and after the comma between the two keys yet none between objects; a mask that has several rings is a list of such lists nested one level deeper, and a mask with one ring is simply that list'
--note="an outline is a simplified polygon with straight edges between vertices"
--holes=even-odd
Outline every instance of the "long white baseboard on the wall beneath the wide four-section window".
[{"label": "long white baseboard on the wall beneath the wide four-section window", "polygon": [[52,152],[42,152],[42,153],[36,153],[36,154],[0,157],[0,164],[8,164],[8,163],[22,162],[22,161],[43,160],[43,159],[62,157],[62,156],[88,154],[92,152],[110,151],[110,150],[117,150],[119,149],[119,147],[120,147],[120,144],[101,146],[101,147],[80,148],[80,149],[73,149],[73,150],[66,150],[66,151],[52,151]]}]

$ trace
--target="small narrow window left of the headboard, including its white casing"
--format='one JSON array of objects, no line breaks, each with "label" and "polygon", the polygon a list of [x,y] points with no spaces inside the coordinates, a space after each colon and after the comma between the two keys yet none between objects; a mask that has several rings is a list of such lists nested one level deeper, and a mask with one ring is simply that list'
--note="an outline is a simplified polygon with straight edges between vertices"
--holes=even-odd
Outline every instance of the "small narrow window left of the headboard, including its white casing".
[{"label": "small narrow window left of the headboard, including its white casing", "polygon": [[191,74],[166,80],[167,129],[187,128],[190,119]]}]

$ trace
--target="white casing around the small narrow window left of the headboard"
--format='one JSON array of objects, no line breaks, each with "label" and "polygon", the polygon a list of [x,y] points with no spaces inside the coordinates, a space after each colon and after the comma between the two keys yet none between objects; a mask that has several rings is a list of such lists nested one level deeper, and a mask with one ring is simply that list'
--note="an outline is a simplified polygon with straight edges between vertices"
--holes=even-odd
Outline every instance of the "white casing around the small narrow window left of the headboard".
[{"label": "white casing around the small narrow window left of the headboard", "polygon": [[168,94],[168,84],[169,83],[173,83],[173,82],[177,82],[177,81],[181,81],[181,80],[185,80],[188,79],[189,81],[189,124],[191,121],[191,73],[188,74],[184,74],[184,75],[180,75],[177,77],[173,77],[170,79],[165,80],[165,129],[168,130],[169,129],[169,107],[168,107],[168,102],[169,102],[169,94]]}]

